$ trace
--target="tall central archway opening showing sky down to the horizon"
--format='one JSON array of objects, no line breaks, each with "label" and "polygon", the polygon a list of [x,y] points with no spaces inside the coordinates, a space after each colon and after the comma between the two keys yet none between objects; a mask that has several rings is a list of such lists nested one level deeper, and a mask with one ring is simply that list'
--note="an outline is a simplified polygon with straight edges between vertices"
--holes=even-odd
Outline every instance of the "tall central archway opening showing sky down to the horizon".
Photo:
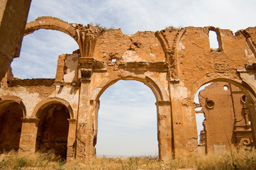
[{"label": "tall central archway opening showing sky down to the horizon", "polygon": [[97,156],[157,156],[157,110],[152,90],[119,80],[100,97]]}]

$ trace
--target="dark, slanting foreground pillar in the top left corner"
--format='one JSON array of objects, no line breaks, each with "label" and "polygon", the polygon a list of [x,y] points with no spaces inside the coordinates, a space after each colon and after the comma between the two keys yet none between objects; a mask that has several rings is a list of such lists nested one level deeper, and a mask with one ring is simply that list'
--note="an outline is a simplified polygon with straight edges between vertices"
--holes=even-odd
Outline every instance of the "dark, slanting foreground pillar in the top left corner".
[{"label": "dark, slanting foreground pillar in the top left corner", "polygon": [[0,81],[20,55],[31,0],[0,1]]}]

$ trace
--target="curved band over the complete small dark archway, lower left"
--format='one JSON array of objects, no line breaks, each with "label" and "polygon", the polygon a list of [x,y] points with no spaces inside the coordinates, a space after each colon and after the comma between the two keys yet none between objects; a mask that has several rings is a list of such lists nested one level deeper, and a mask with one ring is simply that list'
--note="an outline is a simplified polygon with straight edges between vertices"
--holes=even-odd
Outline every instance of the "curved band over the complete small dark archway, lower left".
[{"label": "curved band over the complete small dark archway, lower left", "polygon": [[70,118],[74,119],[74,113],[73,113],[72,107],[70,106],[70,104],[67,101],[65,101],[62,98],[46,98],[45,100],[40,101],[40,103],[38,103],[35,106],[35,108],[33,110],[33,113],[32,113],[32,116],[35,117],[35,118],[39,118],[40,113],[43,111],[43,109],[46,108],[47,106],[49,106],[50,104],[53,104],[53,103],[60,103],[64,106],[66,106],[67,110],[69,111]]}]

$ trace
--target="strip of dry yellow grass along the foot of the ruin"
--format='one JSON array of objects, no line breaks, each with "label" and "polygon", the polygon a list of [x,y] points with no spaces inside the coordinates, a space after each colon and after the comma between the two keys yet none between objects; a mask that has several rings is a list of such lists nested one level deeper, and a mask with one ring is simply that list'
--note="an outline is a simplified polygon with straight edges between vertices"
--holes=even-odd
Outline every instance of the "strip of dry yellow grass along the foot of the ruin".
[{"label": "strip of dry yellow grass along the foot of the ruin", "polygon": [[256,169],[256,152],[208,154],[176,157],[162,164],[155,157],[97,158],[89,164],[64,162],[53,152],[29,154],[6,152],[0,155],[0,169]]}]

